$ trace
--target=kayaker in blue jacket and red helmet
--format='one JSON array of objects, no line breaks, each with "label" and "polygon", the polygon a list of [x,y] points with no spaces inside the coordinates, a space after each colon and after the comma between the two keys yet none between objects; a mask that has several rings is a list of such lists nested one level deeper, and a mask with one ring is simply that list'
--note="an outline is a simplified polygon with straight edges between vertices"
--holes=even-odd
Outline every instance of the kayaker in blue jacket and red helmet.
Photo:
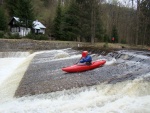
[{"label": "kayaker in blue jacket and red helmet", "polygon": [[79,65],[90,65],[91,62],[92,57],[88,54],[88,51],[83,51]]}]

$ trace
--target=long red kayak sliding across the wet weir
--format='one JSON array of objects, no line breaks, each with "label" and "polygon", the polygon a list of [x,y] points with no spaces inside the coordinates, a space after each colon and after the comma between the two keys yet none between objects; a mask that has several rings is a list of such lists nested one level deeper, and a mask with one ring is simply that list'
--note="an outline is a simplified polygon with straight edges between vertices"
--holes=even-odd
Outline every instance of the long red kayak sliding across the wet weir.
[{"label": "long red kayak sliding across the wet weir", "polygon": [[68,67],[62,68],[63,71],[69,72],[69,73],[74,73],[74,72],[82,72],[82,71],[87,71],[91,70],[94,68],[98,68],[106,63],[106,60],[97,60],[93,61],[91,65],[72,65]]}]

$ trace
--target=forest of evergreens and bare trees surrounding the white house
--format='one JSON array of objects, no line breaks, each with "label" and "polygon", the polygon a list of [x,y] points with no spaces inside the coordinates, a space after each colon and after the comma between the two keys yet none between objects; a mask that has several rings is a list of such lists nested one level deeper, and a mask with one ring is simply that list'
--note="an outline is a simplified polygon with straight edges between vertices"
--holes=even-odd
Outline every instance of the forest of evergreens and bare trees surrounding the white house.
[{"label": "forest of evergreens and bare trees surrounding the white house", "polygon": [[0,38],[14,16],[41,21],[43,39],[150,46],[150,0],[0,0]]}]

